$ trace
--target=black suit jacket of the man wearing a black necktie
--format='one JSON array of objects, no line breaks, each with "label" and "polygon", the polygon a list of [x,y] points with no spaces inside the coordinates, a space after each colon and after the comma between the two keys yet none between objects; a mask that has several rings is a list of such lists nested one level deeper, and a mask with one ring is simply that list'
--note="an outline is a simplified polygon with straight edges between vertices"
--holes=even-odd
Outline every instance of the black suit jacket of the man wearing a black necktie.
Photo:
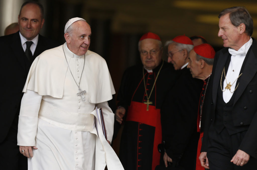
[{"label": "black suit jacket of the man wearing a black necktie", "polygon": [[[57,43],[39,35],[33,57],[43,51],[58,46]],[[0,37],[1,48],[1,95],[0,95],[0,143],[11,128],[17,129],[22,90],[31,62],[25,56],[21,46],[19,31]],[[16,137],[17,138],[17,137]]]}]

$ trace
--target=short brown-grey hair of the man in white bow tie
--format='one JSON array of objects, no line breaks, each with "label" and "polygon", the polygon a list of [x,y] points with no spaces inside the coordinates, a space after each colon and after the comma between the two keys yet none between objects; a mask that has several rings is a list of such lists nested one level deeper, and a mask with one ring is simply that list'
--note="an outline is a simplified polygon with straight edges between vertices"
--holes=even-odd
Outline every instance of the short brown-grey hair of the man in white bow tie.
[{"label": "short brown-grey hair of the man in white bow tie", "polygon": [[247,35],[252,36],[253,34],[253,19],[250,13],[244,6],[234,6],[231,8],[226,8],[219,14],[219,18],[229,14],[231,23],[238,27],[241,23],[245,24],[245,32]]}]

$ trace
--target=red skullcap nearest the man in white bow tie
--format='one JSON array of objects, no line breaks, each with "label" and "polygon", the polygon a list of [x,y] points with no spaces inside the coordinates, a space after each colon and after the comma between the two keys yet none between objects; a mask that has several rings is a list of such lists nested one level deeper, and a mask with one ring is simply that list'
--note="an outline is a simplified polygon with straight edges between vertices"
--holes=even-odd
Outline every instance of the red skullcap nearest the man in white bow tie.
[{"label": "red skullcap nearest the man in white bow tie", "polygon": [[214,58],[215,51],[213,47],[209,44],[201,44],[194,47],[196,54],[205,57],[205,58]]}]

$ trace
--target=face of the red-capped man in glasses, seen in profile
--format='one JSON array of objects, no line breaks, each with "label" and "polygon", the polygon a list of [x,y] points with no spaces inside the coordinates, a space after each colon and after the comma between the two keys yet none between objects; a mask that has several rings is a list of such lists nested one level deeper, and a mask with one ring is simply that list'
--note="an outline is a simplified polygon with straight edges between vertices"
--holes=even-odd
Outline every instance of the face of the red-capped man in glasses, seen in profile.
[{"label": "face of the red-capped man in glasses, seen in profile", "polygon": [[186,64],[183,49],[179,49],[175,43],[168,46],[168,62],[173,64],[175,70],[180,70]]}]

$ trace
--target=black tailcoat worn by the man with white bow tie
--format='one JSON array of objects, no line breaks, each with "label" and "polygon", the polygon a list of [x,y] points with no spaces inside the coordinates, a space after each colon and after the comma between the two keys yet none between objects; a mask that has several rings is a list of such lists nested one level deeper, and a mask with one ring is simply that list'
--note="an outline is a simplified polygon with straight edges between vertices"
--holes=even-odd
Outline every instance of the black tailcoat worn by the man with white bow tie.
[{"label": "black tailcoat worn by the man with white bow tie", "polygon": [[[208,118],[204,131],[203,145],[201,151],[207,151],[208,130],[212,121],[215,120],[215,109],[217,104],[217,93],[221,90],[220,78],[227,58],[230,56],[228,48],[218,51],[214,58],[213,71],[211,75],[211,93],[206,103]],[[247,130],[242,143],[238,149],[257,158],[257,42],[253,38],[249,57],[242,70],[242,76],[238,80],[239,86],[236,90],[232,118],[236,132]]]}]

